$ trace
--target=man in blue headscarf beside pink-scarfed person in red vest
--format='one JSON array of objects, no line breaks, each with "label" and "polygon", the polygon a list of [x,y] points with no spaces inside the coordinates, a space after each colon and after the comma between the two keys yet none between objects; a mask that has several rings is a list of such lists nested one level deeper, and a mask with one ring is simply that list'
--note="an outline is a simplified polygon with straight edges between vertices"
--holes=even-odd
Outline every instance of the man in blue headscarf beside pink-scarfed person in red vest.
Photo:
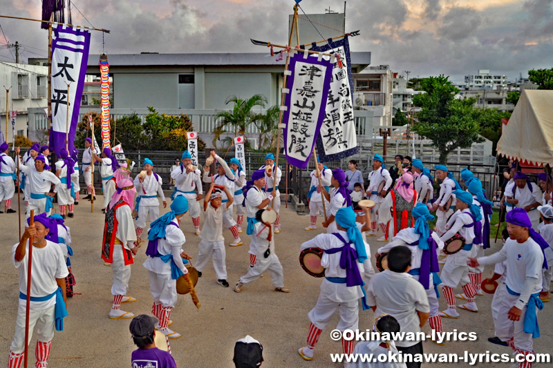
[{"label": "man in blue headscarf beside pink-scarfed person in red vest", "polygon": [[142,229],[146,226],[148,216],[150,222],[158,220],[160,217],[160,201],[158,195],[163,202],[163,208],[167,207],[165,194],[161,185],[163,181],[161,177],[153,172],[153,162],[149,158],[144,159],[144,171],[134,178],[134,186],[138,192],[136,197],[135,210],[138,211],[136,219],[135,231],[137,240],[142,235]]}]

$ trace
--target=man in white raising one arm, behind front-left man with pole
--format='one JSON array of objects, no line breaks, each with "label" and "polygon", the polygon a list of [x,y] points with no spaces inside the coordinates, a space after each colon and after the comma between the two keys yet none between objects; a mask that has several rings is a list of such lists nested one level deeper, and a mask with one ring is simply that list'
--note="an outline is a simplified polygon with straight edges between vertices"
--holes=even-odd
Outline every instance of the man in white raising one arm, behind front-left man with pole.
[{"label": "man in white raising one arm, behind front-left man with pole", "polygon": [[[19,159],[19,147],[15,148],[15,154]],[[27,218],[30,217],[30,210],[35,210],[35,214],[47,213],[50,215],[55,193],[62,182],[54,173],[51,173],[50,166],[46,164],[46,157],[37,155],[35,157],[35,166],[19,165],[19,170],[27,175],[26,186],[29,187],[29,205],[27,206]],[[50,193],[50,187],[54,186],[53,193]]]}]

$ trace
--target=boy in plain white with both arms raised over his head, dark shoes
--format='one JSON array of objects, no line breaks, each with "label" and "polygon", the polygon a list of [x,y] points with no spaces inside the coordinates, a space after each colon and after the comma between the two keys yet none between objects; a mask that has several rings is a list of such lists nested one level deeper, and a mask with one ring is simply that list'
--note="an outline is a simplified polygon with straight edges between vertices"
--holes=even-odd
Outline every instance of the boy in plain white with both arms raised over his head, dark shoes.
[{"label": "boy in plain white with both arms raised over his head, dark shoes", "polygon": [[[227,282],[227,253],[225,251],[225,238],[223,237],[223,213],[227,211],[229,206],[232,206],[234,199],[228,189],[216,188],[216,184],[212,183],[209,186],[209,191],[205,195],[203,202],[204,224],[202,233],[200,234],[200,244],[198,244],[198,260],[196,261],[196,269],[198,275],[202,275],[202,271],[207,265],[209,258],[212,258],[213,268],[217,275],[217,284],[222,287],[229,287]],[[225,193],[228,202],[223,204],[221,192]]]}]

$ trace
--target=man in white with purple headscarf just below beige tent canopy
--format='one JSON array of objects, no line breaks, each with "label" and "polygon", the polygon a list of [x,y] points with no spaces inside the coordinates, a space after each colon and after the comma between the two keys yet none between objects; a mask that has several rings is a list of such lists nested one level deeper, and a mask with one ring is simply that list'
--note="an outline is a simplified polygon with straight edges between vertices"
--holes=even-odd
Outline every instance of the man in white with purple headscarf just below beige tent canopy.
[{"label": "man in white with purple headscarf just below beige tent canopy", "polygon": [[530,182],[525,173],[517,171],[514,175],[514,183],[509,183],[505,187],[505,200],[507,204],[515,206],[517,209],[524,209],[532,222],[532,229],[538,231],[540,223],[540,214],[537,211],[543,195],[538,185]]}]

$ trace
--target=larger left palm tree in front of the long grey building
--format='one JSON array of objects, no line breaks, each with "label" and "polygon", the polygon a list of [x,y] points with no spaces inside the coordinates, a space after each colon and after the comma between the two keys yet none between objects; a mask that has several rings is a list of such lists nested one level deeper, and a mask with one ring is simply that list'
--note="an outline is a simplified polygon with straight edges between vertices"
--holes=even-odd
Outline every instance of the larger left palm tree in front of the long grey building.
[{"label": "larger left palm tree in front of the long grey building", "polygon": [[213,139],[214,146],[217,146],[217,141],[224,133],[232,133],[236,135],[245,135],[247,126],[254,123],[259,118],[259,114],[252,111],[255,106],[261,108],[267,104],[267,98],[263,95],[253,95],[249,99],[242,99],[236,96],[230,96],[225,101],[225,104],[234,102],[232,110],[218,111],[215,116],[219,123],[214,128]]}]

